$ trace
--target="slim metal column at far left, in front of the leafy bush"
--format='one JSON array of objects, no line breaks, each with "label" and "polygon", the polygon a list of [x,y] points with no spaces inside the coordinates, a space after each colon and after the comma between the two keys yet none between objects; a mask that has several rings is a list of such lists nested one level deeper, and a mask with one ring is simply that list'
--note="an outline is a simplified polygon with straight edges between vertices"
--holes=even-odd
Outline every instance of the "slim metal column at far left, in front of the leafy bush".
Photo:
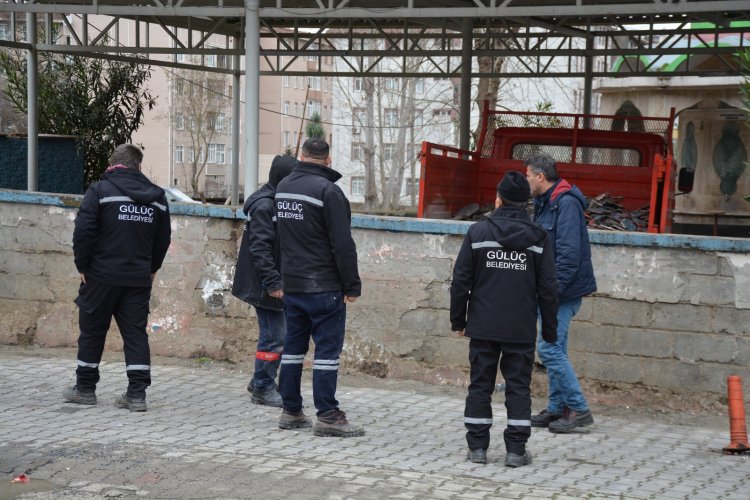
[{"label": "slim metal column at far left, in front of the leafy bush", "polygon": [[27,182],[29,191],[39,190],[39,109],[37,107],[37,86],[39,63],[37,60],[36,44],[36,14],[26,13],[26,41],[31,48],[26,52],[26,78],[27,78],[27,101],[28,108],[28,146],[27,146]]}]

